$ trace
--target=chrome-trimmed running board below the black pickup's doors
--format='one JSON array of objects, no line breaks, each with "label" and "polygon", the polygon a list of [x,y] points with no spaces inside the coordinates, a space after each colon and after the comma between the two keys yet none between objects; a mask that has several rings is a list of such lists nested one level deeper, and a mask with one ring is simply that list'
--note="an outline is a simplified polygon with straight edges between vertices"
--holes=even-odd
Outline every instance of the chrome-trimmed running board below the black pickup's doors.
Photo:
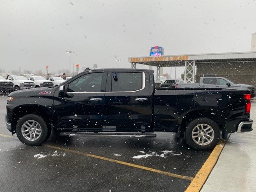
[{"label": "chrome-trimmed running board below the black pickup's doors", "polygon": [[125,137],[156,137],[156,134],[154,133],[127,133],[127,132],[62,132],[60,133],[60,136],[97,136],[97,137],[103,137],[103,136],[125,136]]}]

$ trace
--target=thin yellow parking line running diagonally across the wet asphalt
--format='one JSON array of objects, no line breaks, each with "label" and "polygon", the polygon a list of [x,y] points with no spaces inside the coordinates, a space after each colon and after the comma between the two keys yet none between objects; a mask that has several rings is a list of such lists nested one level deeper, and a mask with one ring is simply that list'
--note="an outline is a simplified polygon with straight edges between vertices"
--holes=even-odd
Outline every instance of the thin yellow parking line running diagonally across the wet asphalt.
[{"label": "thin yellow parking line running diagonally across the wet asphalt", "polygon": [[[4,134],[0,134],[0,136],[13,138],[12,136],[4,135]],[[141,165],[136,165],[136,164],[132,164],[132,163],[124,162],[124,161],[119,161],[119,160],[115,160],[115,159],[111,159],[111,158],[107,158],[107,157],[92,155],[92,154],[88,154],[88,153],[84,153],[84,152],[79,152],[79,151],[66,149],[66,148],[62,148],[62,147],[56,147],[56,146],[47,145],[47,144],[44,145],[44,146],[49,147],[49,148],[53,148],[53,149],[62,150],[62,151],[65,151],[65,152],[71,152],[71,153],[74,153],[74,154],[79,154],[79,155],[82,155],[82,156],[92,157],[92,158],[96,158],[96,159],[100,159],[100,160],[105,160],[105,161],[109,161],[109,162],[114,162],[114,163],[130,166],[130,167],[134,167],[134,168],[139,168],[139,169],[151,171],[151,172],[156,172],[156,173],[167,175],[167,176],[174,177],[174,178],[190,180],[190,181],[193,180],[192,177],[179,175],[179,174],[174,174],[174,173],[170,173],[170,172],[166,172],[166,171],[161,171],[161,170],[158,170],[158,169],[153,169],[153,168],[149,168],[149,167],[145,167],[145,166],[141,166]]]}]

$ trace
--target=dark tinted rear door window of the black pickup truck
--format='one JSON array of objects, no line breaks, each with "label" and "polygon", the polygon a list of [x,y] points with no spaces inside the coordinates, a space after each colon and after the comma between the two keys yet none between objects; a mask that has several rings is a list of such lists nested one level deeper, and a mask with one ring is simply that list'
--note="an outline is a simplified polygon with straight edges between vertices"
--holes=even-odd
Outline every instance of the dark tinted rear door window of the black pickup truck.
[{"label": "dark tinted rear door window of the black pickup truck", "polygon": [[142,73],[112,72],[112,92],[128,92],[142,89]]}]

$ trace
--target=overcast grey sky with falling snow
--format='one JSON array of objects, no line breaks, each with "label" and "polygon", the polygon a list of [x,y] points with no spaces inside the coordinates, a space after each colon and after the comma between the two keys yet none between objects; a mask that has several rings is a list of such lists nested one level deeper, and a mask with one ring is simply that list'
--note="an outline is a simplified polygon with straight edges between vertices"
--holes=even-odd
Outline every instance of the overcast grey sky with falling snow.
[{"label": "overcast grey sky with falling snow", "polygon": [[250,51],[255,13],[255,0],[1,0],[0,67],[68,69],[66,50],[80,68],[130,68],[128,57],[155,45],[165,55]]}]

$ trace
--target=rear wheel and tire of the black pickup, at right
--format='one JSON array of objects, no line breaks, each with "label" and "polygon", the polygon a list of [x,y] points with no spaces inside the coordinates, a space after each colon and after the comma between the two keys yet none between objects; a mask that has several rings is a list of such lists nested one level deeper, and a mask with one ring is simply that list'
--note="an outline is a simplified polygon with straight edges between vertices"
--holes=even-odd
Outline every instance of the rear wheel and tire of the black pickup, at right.
[{"label": "rear wheel and tire of the black pickup, at right", "polygon": [[[203,129],[204,132],[202,132]],[[197,118],[188,124],[185,138],[186,142],[194,150],[213,150],[220,140],[220,128],[211,119]]]}]

